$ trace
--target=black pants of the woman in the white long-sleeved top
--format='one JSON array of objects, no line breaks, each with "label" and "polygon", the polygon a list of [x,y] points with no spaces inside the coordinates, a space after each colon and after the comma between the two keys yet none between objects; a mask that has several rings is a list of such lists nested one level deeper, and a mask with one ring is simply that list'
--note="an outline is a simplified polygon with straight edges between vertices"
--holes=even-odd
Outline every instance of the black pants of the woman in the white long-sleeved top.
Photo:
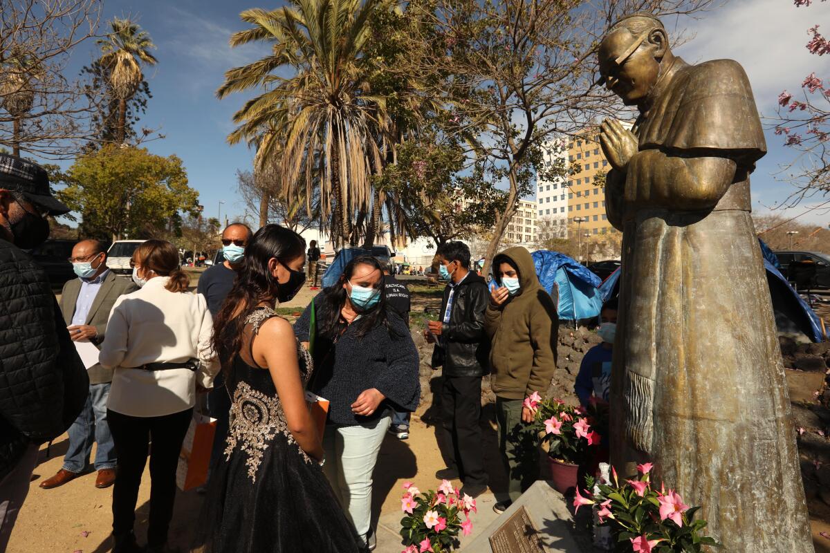
[{"label": "black pants of the woman in the white long-sleeved top", "polygon": [[192,416],[193,409],[159,417],[134,417],[107,410],[115,454],[118,455],[118,473],[112,492],[112,532],[115,536],[133,531],[141,474],[152,441],[147,545],[163,546],[167,542],[176,498],[178,454]]}]

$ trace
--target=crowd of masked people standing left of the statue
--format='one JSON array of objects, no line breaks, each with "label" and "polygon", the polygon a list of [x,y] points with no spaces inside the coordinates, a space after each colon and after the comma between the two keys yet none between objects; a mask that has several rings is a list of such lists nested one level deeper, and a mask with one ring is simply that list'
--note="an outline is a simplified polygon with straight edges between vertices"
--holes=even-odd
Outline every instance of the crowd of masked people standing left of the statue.
[{"label": "crowd of masked people standing left of the statue", "polygon": [[[0,157],[0,551],[39,445],[66,429],[64,463],[41,488],[89,472],[95,442],[95,486],[114,485],[113,551],[171,551],[178,454],[203,393],[217,438],[194,551],[293,551],[300,542],[308,551],[373,551],[378,453],[386,434],[408,437],[420,400],[409,293],[389,267],[369,255],[350,260],[292,326],[275,308],[307,277],[316,284],[320,259],[292,230],[228,226],[224,262],[195,293],[169,242],[139,245],[123,279],[100,242],[82,240],[71,255],[78,278],[58,304],[22,249],[46,240],[46,216],[66,211],[40,167]],[[452,445],[436,476],[460,479],[462,496],[488,488],[480,417],[481,379],[491,374],[509,474],[502,512],[539,476],[538,458],[520,458],[533,421],[523,401],[544,394],[553,376],[556,306],[524,248],[496,256],[489,285],[460,241],[441,245],[437,260],[448,284],[423,332],[433,368],[442,368],[442,439]],[[308,391],[330,402],[322,431]],[[143,548],[134,521],[148,458]]]}]

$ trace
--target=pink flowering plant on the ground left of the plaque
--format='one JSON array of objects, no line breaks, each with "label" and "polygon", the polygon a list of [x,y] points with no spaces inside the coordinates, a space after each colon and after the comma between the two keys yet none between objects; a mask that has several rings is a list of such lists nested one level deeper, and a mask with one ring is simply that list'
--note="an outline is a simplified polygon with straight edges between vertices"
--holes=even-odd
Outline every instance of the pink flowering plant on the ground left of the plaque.
[{"label": "pink flowering plant on the ground left of the plaque", "polygon": [[[470,512],[476,511],[476,500],[464,494],[447,480],[438,491],[421,492],[412,483],[403,484],[401,537],[407,546],[402,553],[447,553],[459,546],[458,531],[466,536],[472,531]],[[463,520],[461,515],[464,516]]]}]

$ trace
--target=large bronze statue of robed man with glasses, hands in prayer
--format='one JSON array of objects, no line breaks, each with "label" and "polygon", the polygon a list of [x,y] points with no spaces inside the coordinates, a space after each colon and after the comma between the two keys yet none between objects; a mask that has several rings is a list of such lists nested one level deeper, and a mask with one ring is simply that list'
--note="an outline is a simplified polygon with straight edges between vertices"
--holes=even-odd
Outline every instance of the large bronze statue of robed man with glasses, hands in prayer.
[{"label": "large bronze statue of robed man with glasses, hands in prayer", "polygon": [[673,56],[657,18],[613,25],[600,76],[640,115],[602,124],[623,231],[612,461],[655,463],[729,553],[813,551],[749,173],[766,153],[731,60]]}]

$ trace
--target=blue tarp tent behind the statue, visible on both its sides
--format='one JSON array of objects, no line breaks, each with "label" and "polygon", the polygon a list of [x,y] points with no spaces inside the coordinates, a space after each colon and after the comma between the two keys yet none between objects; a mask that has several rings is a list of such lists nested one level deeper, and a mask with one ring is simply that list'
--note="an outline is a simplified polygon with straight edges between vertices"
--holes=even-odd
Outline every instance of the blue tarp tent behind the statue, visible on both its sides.
[{"label": "blue tarp tent behind the statue, visible on both its sides", "polygon": [[[765,257],[765,256],[764,256]],[[789,285],[779,269],[775,269],[769,259],[764,259],[764,269],[767,269],[767,284],[769,295],[773,300],[775,325],[781,333],[800,332],[813,342],[823,342],[824,331],[820,318],[809,304]],[[603,302],[619,293],[620,269],[605,279],[599,287]]]}]

